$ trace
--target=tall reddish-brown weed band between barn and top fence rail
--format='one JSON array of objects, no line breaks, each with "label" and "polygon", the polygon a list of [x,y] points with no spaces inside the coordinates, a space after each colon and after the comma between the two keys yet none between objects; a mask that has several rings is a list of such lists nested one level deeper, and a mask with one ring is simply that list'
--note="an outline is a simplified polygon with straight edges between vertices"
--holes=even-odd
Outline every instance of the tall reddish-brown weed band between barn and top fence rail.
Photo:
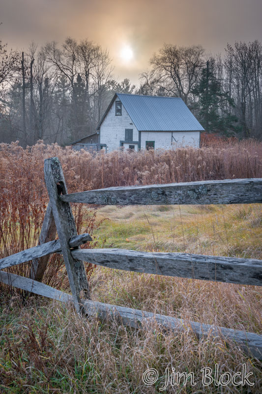
[{"label": "tall reddish-brown weed band between barn and top fence rail", "polygon": [[[262,177],[262,143],[217,141],[210,146],[169,151],[104,151],[93,155],[41,141],[29,149],[0,144],[0,186],[46,198],[44,159],[58,156],[69,192],[111,186]],[[13,178],[15,179],[14,185]],[[22,185],[23,183],[23,185]],[[15,189],[13,189],[15,188]]]}]

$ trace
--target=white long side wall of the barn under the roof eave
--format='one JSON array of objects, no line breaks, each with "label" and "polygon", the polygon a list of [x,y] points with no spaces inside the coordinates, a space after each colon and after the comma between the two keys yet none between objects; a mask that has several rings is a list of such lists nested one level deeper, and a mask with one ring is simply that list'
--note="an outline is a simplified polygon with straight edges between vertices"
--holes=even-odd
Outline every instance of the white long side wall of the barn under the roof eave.
[{"label": "white long side wall of the barn under the roof eave", "polygon": [[[154,141],[155,149],[170,149],[172,146],[193,146],[200,144],[200,131],[141,131],[141,149],[146,149],[146,141]],[[173,144],[171,143],[173,141]]]}]

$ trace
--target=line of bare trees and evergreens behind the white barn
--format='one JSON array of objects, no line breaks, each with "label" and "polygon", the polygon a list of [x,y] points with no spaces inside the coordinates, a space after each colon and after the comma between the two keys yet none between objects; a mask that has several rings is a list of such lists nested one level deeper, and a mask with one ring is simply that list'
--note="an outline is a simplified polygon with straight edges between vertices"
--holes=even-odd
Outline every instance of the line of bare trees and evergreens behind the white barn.
[{"label": "line of bare trees and evergreens behind the white barn", "polygon": [[139,86],[114,79],[107,50],[66,38],[28,51],[0,41],[0,142],[65,145],[92,134],[115,92],[180,97],[205,131],[262,139],[262,44],[235,42],[222,55],[164,44]]}]

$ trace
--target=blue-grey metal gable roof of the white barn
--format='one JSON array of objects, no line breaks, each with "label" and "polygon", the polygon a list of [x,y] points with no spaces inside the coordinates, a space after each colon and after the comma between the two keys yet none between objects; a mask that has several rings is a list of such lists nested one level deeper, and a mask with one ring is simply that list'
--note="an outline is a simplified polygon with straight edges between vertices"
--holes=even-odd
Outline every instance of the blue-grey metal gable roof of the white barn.
[{"label": "blue-grey metal gable roof of the white barn", "polygon": [[122,102],[138,131],[204,131],[180,98],[123,93],[115,94],[98,128],[116,97]]}]

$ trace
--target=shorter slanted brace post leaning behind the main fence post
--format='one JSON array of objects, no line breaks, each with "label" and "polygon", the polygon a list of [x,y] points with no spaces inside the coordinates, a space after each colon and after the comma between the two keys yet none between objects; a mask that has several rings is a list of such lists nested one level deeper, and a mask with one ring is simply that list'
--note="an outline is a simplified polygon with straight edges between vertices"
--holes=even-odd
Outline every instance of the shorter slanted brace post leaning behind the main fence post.
[{"label": "shorter slanted brace post leaning behind the main fence post", "polygon": [[[38,245],[42,245],[46,242],[53,241],[56,238],[57,228],[55,219],[52,213],[50,202],[48,203],[45,217],[42,224],[42,229],[39,236]],[[30,278],[41,282],[44,276],[44,272],[47,267],[48,259],[50,255],[45,255],[39,258],[35,258],[31,264]]]}]

